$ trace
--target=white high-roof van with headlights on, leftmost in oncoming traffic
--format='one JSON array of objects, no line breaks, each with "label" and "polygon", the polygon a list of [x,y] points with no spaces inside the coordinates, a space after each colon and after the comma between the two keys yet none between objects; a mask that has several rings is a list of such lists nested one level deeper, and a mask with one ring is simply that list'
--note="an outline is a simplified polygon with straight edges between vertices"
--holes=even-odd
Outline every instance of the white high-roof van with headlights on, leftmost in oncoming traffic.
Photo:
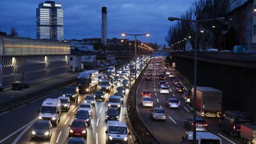
[{"label": "white high-roof van with headlights on, leftmost in oncoming traffic", "polygon": [[38,110],[40,120],[48,120],[55,126],[61,119],[61,100],[58,98],[47,98]]}]

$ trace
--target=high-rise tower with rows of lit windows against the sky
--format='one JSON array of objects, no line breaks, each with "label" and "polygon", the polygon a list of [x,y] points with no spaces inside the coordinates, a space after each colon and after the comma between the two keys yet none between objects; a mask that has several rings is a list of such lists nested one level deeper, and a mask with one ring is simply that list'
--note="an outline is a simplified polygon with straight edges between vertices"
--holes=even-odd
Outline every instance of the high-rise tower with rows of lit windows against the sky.
[{"label": "high-rise tower with rows of lit windows against the sky", "polygon": [[36,9],[37,39],[64,39],[63,9],[61,4],[46,1]]}]

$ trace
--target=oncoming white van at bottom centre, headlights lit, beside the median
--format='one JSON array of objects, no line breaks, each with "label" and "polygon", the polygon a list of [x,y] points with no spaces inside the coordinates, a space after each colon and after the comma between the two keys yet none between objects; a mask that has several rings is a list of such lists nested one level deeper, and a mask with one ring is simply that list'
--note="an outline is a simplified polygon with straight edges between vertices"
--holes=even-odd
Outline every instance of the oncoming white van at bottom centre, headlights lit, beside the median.
[{"label": "oncoming white van at bottom centre, headlights lit, beside the median", "polygon": [[129,135],[124,121],[107,121],[106,143],[128,143]]}]

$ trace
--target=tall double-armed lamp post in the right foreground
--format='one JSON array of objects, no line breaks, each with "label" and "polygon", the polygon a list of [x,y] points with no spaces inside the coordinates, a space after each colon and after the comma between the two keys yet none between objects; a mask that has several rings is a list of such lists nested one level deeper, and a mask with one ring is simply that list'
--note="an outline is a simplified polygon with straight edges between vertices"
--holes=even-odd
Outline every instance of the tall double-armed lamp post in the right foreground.
[{"label": "tall double-armed lamp post in the right foreground", "polygon": [[203,19],[203,20],[190,20],[190,19],[180,19],[176,17],[169,17],[169,21],[187,21],[195,23],[195,55],[194,55],[194,101],[193,101],[193,143],[196,144],[196,61],[197,61],[197,49],[198,49],[198,25],[200,22],[209,21],[224,21],[224,17]]}]

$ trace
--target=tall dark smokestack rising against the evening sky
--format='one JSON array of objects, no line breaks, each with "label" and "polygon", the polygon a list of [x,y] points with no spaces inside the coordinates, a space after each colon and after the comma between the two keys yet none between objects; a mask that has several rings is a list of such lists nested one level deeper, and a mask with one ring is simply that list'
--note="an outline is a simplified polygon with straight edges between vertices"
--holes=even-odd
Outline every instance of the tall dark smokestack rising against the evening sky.
[{"label": "tall dark smokestack rising against the evening sky", "polygon": [[107,7],[102,7],[102,43],[107,46]]}]

